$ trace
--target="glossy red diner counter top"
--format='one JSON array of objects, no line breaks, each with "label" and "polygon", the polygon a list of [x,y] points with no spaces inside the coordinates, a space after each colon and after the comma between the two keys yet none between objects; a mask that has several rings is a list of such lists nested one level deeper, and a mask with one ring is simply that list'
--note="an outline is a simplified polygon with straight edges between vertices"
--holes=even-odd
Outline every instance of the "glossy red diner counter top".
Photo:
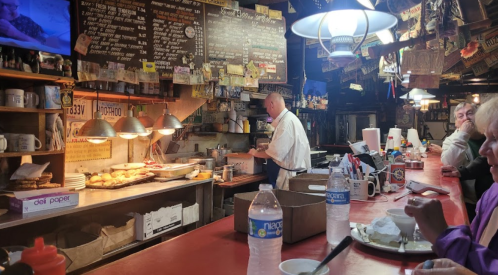
[{"label": "glossy red diner counter top", "polygon": [[[441,200],[448,224],[468,223],[458,179],[441,177],[439,156],[430,156],[424,162],[424,170],[407,170],[407,179],[450,189],[449,195],[429,196]],[[373,218],[384,216],[386,209],[402,208],[409,198],[422,196],[408,195],[394,201],[396,195],[399,193],[386,194],[388,202],[352,202],[351,222],[370,223]],[[375,199],[381,201],[382,197],[376,196]],[[234,231],[233,224],[233,216],[224,218],[87,274],[246,274],[249,259],[247,234]],[[292,258],[322,260],[330,249],[325,233],[321,233],[294,244],[284,244],[282,261]],[[417,264],[435,257],[434,254],[389,253],[354,242],[328,266],[333,271],[331,274],[399,275],[410,274]]]}]

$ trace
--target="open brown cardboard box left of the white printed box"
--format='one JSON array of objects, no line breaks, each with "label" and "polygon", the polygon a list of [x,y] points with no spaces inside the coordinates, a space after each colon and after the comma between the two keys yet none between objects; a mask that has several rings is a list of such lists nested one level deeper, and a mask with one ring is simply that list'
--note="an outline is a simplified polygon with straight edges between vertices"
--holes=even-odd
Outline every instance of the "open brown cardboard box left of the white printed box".
[{"label": "open brown cardboard box left of the white printed box", "polygon": [[100,231],[104,254],[135,240],[135,218],[118,216],[112,218],[112,222],[108,224]]}]

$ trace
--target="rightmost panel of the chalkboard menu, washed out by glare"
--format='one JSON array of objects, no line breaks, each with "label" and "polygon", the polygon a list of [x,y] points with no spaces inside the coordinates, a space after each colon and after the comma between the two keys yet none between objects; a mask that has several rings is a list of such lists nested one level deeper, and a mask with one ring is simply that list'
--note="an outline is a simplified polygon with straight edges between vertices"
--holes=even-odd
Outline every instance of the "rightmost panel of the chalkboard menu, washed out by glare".
[{"label": "rightmost panel of the chalkboard menu, washed out by glare", "polygon": [[227,64],[259,67],[260,83],[287,82],[285,20],[241,8],[206,5],[206,57],[213,76]]}]

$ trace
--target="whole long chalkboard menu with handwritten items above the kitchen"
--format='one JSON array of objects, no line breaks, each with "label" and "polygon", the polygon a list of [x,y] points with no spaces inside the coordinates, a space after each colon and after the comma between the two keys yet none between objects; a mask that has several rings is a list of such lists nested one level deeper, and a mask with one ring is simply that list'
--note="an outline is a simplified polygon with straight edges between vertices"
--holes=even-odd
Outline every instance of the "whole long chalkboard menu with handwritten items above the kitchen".
[{"label": "whole long chalkboard menu with handwritten items above the kitchen", "polygon": [[260,68],[260,83],[287,82],[285,20],[191,0],[77,0],[78,33],[92,37],[81,60],[142,67],[156,63],[163,77],[174,66],[202,68],[213,77],[226,65]]}]

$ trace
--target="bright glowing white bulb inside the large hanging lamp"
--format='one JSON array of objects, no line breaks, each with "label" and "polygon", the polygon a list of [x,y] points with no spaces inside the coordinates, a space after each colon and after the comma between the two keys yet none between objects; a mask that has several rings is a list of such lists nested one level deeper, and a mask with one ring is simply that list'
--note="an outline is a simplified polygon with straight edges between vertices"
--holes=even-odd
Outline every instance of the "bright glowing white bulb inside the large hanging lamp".
[{"label": "bright glowing white bulb inside the large hanging lamp", "polygon": [[328,27],[332,37],[353,36],[358,26],[358,11],[341,10],[328,15]]}]

